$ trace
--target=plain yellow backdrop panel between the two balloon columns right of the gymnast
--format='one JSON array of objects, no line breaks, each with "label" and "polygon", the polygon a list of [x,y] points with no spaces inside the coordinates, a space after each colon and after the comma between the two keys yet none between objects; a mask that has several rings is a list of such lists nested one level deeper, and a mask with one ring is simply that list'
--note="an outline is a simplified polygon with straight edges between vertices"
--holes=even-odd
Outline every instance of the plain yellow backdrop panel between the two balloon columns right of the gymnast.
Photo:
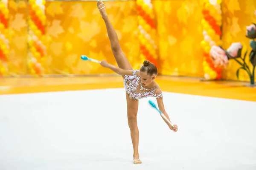
[{"label": "plain yellow backdrop panel between the two balloon columns right of the gymnast", "polygon": [[160,73],[203,76],[202,0],[154,0]]}]

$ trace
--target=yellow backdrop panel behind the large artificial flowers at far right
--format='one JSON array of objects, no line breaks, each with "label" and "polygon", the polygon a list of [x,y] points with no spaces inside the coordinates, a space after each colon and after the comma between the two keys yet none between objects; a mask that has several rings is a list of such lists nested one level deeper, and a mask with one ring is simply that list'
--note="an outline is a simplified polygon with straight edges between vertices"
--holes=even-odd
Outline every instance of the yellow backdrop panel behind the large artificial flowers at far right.
[{"label": "yellow backdrop panel behind the large artificial flowers at far right", "polygon": [[[233,42],[243,44],[242,55],[245,51],[251,51],[250,40],[245,37],[246,26],[256,23],[256,0],[223,0],[223,48],[227,49]],[[247,56],[247,64],[252,66]],[[224,78],[237,80],[236,70],[240,65],[235,60],[230,60],[228,67],[224,70]],[[252,67],[250,67],[252,70]],[[245,71],[239,71],[239,80],[249,81]]]}]

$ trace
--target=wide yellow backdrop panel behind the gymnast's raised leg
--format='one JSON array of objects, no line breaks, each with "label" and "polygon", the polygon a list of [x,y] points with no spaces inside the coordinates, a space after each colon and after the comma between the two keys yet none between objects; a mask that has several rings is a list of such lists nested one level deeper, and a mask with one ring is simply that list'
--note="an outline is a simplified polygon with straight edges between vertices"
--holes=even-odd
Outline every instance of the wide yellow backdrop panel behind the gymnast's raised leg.
[{"label": "wide yellow backdrop panel behind the gymnast's raised leg", "polygon": [[[122,50],[134,66],[139,61],[135,1],[105,1],[108,17]],[[116,65],[105,23],[92,2],[47,2],[47,34],[51,37],[48,57],[51,73],[108,74],[111,70],[80,59],[82,54]]]}]

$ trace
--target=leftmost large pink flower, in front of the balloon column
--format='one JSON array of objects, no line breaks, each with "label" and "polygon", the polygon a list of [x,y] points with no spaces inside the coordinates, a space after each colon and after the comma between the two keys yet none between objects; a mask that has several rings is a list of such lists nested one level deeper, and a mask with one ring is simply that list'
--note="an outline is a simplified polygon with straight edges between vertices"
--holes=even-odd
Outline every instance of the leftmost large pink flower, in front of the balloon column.
[{"label": "leftmost large pink flower, in front of the balloon column", "polygon": [[228,58],[227,58],[226,52],[222,48],[216,45],[213,45],[210,50],[210,57],[215,67],[222,67],[222,66],[224,66],[225,68],[227,67]]}]

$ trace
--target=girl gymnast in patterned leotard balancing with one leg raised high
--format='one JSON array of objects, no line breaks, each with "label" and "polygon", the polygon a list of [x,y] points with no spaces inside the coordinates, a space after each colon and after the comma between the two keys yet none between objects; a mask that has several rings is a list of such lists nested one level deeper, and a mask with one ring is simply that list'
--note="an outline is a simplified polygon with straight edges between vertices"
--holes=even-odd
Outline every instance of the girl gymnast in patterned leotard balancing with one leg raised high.
[{"label": "girl gymnast in patterned leotard balancing with one leg raised high", "polygon": [[[101,65],[106,68],[110,68],[112,71],[116,72],[117,74],[122,75],[124,79],[124,87],[126,91],[126,101],[127,101],[127,116],[128,116],[128,125],[131,130],[131,140],[133,144],[134,154],[134,164],[141,164],[139,158],[139,130],[137,126],[137,111],[138,111],[138,99],[146,98],[146,97],[155,97],[157,99],[157,104],[160,111],[169,119],[168,114],[165,111],[163,105],[163,95],[161,92],[160,87],[154,81],[157,76],[157,68],[156,66],[145,60],[143,62],[143,66],[140,70],[133,70],[131,67],[130,62],[125,57],[123,53],[117,34],[108,19],[108,14],[106,13],[105,4],[101,1],[97,1],[97,7],[102,15],[102,19],[105,22],[108,37],[111,42],[111,49],[113,55],[116,59],[117,65],[119,68],[115,67],[114,65],[109,64],[105,60],[101,62]],[[174,132],[177,132],[178,127],[177,125],[169,125],[169,123],[164,120],[169,128]],[[170,121],[170,119],[169,119]]]}]

